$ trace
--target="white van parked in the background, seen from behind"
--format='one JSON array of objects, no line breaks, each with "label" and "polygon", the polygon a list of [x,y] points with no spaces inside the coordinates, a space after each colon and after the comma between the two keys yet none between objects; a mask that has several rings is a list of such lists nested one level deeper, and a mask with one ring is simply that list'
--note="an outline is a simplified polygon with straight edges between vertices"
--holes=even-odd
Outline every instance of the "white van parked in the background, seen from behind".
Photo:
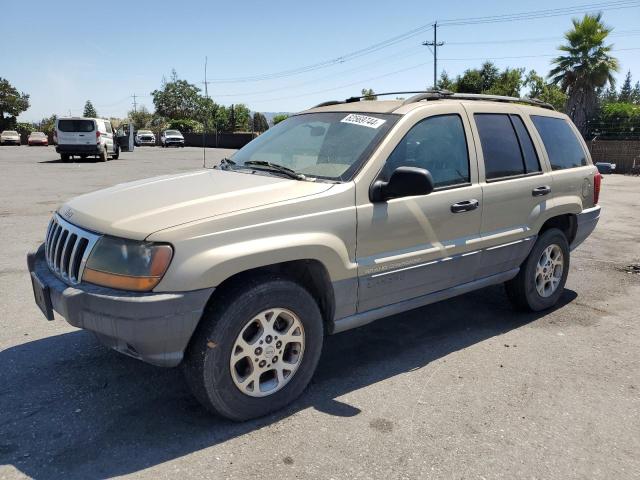
[{"label": "white van parked in the background, seen from behind", "polygon": [[120,151],[129,151],[128,138],[116,135],[109,120],[101,118],[69,117],[56,121],[56,152],[63,162],[72,156],[96,156],[103,162],[117,159]]}]

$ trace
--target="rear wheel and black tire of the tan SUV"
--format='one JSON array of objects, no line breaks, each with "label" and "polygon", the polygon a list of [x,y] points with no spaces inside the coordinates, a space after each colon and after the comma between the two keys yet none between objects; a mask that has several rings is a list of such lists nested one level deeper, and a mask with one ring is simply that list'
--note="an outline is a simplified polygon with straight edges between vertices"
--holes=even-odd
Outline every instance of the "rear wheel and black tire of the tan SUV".
[{"label": "rear wheel and black tire of the tan SUV", "polygon": [[557,228],[536,240],[518,275],[505,283],[507,296],[518,310],[538,312],[553,307],[567,282],[569,243]]}]

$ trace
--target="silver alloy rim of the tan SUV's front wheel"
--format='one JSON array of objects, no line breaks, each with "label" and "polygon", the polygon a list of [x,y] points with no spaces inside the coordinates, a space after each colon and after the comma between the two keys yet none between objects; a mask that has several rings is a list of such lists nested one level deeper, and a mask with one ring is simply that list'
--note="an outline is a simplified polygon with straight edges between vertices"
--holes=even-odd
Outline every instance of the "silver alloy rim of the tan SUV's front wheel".
[{"label": "silver alloy rim of the tan SUV's front wheel", "polygon": [[283,308],[260,312],[247,322],[231,350],[233,383],[251,397],[266,397],[293,378],[304,353],[304,328]]}]

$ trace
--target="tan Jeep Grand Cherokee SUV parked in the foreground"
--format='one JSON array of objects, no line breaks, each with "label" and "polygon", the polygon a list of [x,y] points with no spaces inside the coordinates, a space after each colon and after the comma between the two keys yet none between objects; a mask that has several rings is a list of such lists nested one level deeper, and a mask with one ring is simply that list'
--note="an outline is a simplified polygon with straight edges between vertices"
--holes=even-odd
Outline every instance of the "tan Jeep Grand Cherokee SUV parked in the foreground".
[{"label": "tan Jeep Grand Cherokee SUV parked in the foreground", "polygon": [[28,263],[48,319],[182,364],[241,420],[300,395],[325,334],[498,283],[519,309],[551,307],[599,188],[574,125],[540,102],[352,98],[215,169],[70,200]]}]

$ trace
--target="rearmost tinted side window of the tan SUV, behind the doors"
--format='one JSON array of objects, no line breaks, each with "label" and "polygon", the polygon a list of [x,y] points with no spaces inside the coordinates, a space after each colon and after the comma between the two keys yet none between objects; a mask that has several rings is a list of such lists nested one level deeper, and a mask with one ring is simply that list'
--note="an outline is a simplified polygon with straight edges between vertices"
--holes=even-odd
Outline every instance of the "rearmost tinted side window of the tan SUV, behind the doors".
[{"label": "rearmost tinted side window of the tan SUV, behind the doors", "polygon": [[575,132],[563,118],[531,115],[553,170],[582,167],[587,157]]}]

